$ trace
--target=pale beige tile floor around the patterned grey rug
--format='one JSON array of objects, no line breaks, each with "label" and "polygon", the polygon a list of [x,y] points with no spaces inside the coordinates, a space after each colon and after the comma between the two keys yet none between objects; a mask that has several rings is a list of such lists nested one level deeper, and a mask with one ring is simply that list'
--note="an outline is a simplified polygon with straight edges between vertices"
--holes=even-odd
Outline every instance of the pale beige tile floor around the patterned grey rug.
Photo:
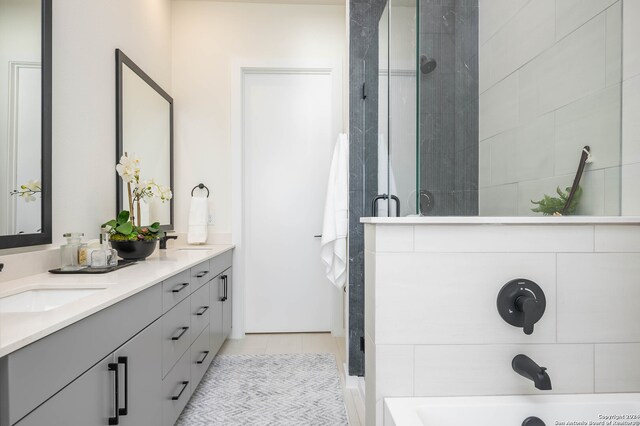
[{"label": "pale beige tile floor around the patterned grey rug", "polygon": [[340,383],[344,391],[349,423],[364,426],[364,403],[357,389],[345,388],[344,363],[346,356],[344,337],[330,333],[247,334],[243,339],[227,340],[221,354],[283,354],[283,353],[332,353],[336,357]]}]

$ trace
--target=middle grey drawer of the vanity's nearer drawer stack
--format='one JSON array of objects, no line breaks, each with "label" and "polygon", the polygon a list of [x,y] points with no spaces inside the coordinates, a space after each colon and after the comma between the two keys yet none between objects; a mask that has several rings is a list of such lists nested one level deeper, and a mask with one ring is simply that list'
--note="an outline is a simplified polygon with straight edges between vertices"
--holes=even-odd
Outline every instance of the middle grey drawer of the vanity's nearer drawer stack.
[{"label": "middle grey drawer of the vanity's nearer drawer stack", "polygon": [[162,316],[162,377],[191,345],[191,304],[189,299],[178,303]]}]

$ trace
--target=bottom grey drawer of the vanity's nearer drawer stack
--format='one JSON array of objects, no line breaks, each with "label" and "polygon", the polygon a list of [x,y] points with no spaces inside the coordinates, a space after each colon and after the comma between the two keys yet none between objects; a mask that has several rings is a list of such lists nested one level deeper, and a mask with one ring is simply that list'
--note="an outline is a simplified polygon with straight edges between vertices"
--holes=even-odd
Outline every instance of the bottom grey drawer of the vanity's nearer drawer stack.
[{"label": "bottom grey drawer of the vanity's nearer drawer stack", "polygon": [[189,361],[191,353],[187,351],[176,363],[171,373],[162,380],[162,424],[173,426],[187,405],[191,395]]}]

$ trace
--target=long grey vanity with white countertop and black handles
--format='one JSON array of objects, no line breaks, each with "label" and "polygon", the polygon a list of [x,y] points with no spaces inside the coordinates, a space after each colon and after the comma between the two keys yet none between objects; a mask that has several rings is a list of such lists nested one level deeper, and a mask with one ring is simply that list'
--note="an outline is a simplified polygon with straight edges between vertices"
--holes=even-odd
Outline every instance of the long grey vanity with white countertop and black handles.
[{"label": "long grey vanity with white countertop and black handles", "polygon": [[0,310],[0,426],[173,425],[231,331],[231,264],[232,246],[177,249],[3,283],[0,298],[84,293]]}]

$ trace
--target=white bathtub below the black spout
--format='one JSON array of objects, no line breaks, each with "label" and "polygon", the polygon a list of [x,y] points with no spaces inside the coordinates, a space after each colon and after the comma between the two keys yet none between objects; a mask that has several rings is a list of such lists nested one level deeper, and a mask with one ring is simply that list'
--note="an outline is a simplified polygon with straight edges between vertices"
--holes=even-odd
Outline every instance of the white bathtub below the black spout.
[{"label": "white bathtub below the black spout", "polygon": [[640,426],[640,394],[385,398],[384,426]]}]

